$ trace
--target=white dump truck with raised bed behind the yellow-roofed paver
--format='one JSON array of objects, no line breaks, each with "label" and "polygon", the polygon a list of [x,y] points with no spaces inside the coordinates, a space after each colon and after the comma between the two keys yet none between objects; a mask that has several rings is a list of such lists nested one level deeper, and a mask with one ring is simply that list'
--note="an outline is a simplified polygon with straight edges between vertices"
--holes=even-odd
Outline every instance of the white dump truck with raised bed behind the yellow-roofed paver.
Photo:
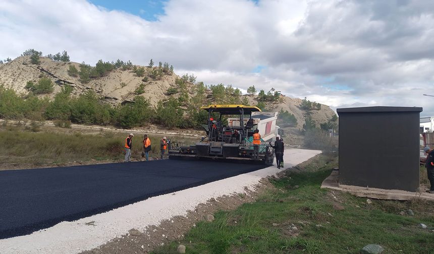
[{"label": "white dump truck with raised bed behind the yellow-roofed paver", "polygon": [[[276,136],[282,137],[283,130],[276,124],[278,112],[252,112],[253,128],[258,129],[264,142],[276,140]],[[246,125],[249,119],[244,119]],[[240,126],[239,118],[228,118],[229,126]]]}]

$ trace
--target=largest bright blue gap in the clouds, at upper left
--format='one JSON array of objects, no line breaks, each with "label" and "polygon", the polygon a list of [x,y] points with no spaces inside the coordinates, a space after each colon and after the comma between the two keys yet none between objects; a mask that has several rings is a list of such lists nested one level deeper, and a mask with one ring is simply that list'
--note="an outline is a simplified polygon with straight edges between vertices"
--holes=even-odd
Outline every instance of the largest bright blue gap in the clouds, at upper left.
[{"label": "largest bright blue gap in the clouds, at upper left", "polygon": [[90,3],[104,7],[107,10],[120,10],[148,21],[156,21],[158,15],[164,15],[164,5],[167,0],[88,0]]}]

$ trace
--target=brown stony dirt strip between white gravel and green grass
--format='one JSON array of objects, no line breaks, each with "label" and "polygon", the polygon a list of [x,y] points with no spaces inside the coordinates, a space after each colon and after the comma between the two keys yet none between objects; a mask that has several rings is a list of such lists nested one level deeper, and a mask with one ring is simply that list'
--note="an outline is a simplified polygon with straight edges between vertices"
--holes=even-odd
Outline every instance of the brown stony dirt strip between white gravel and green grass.
[{"label": "brown stony dirt strip between white gravel and green grass", "polygon": [[[327,158],[319,154],[299,165],[300,167],[311,164],[318,165],[325,160]],[[287,170],[290,170],[290,168]],[[280,175],[284,175],[284,173]],[[193,211],[187,211],[186,216],[177,216],[161,221],[160,224],[148,226],[143,231],[132,228],[129,234],[114,239],[98,248],[83,251],[81,254],[148,253],[159,246],[181,243],[191,228],[195,228],[200,222],[209,221],[207,219],[210,219],[210,216],[212,216],[211,219],[213,220],[213,215],[216,212],[232,211],[243,204],[256,202],[258,198],[267,193],[276,192],[278,189],[270,182],[273,179],[276,179],[276,177],[262,178],[253,188],[245,187],[245,193],[225,195],[217,199],[211,198],[206,203],[199,204]],[[232,220],[229,223],[237,224],[238,222]]]}]

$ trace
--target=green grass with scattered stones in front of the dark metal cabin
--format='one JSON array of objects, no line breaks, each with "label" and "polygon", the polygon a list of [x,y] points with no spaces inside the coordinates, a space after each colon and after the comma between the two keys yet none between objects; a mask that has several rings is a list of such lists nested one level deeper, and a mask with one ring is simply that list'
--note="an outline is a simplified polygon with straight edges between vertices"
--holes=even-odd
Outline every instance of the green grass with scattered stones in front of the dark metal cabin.
[{"label": "green grass with scattered stones in front of the dark metal cabin", "polygon": [[[337,160],[324,163],[323,159],[304,165],[307,171],[271,179],[276,188],[268,189],[255,203],[216,213],[211,223],[198,223],[181,244],[186,245],[187,253],[210,254],[356,254],[370,243],[385,247],[384,254],[432,251],[433,202],[372,200],[368,205],[366,199],[320,189]],[[323,166],[313,170],[320,164]],[[399,215],[404,209],[412,209],[415,216]],[[297,233],[288,234],[293,226]],[[176,253],[177,245],[171,242],[153,253]]]}]

